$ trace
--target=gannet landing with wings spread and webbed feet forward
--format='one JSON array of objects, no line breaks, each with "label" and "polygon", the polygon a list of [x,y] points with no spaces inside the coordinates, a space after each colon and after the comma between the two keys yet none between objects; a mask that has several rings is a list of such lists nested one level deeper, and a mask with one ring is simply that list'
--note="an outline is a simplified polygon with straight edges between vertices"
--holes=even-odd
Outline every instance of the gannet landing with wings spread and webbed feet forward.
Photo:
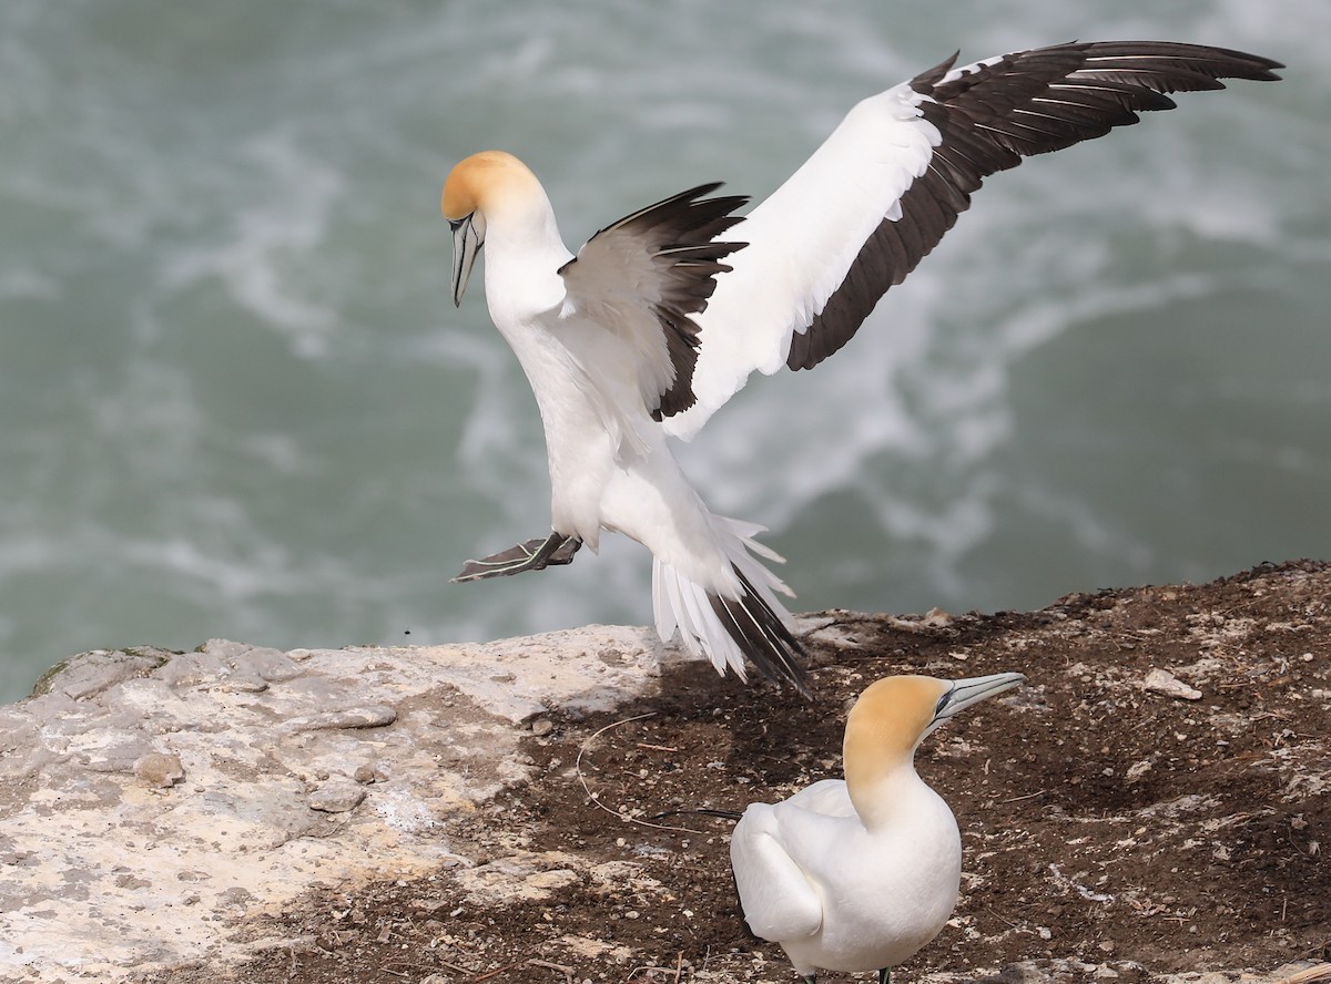
[{"label": "gannet landing with wings spread and webbed feet forward", "polygon": [[700,185],[596,233],[574,257],[536,177],[490,150],[443,186],[453,299],[487,246],[490,315],[536,396],[551,527],[454,578],[567,564],[602,529],[654,554],[656,629],[719,672],[808,693],[803,649],[761,560],[761,527],[711,513],[667,435],[691,439],[755,370],[811,368],[855,334],[970,205],[1030,154],[1169,109],[1165,94],[1272,80],[1280,65],[1166,41],[1061,44],[953,68],[953,59],[856,105],[748,215]]}]

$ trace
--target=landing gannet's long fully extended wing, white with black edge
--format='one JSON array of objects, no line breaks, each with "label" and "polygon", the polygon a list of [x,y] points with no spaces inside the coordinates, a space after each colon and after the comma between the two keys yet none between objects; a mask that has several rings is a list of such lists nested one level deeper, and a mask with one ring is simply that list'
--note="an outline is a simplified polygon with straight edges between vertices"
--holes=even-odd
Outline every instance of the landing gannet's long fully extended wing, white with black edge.
[{"label": "landing gannet's long fully extended wing, white with black edge", "polygon": [[1166,93],[1275,80],[1255,55],[1170,41],[1061,44],[954,69],[956,56],[864,100],[735,230],[749,245],[697,319],[691,437],[753,370],[811,368],[970,206],[985,177],[1171,109]]}]

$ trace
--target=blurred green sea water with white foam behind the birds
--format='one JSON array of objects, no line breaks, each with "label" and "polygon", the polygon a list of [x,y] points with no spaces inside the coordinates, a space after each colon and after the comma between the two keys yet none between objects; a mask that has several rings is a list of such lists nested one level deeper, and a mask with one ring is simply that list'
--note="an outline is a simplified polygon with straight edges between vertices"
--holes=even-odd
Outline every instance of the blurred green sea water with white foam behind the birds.
[{"label": "blurred green sea water with white foam behind the birds", "polygon": [[449,168],[518,153],[576,249],[767,194],[958,47],[1071,37],[1288,69],[996,176],[841,355],[680,448],[797,610],[1331,556],[1324,0],[0,5],[0,699],[91,648],[648,622],[616,537],[449,584],[548,529],[526,380],[449,298]]}]

